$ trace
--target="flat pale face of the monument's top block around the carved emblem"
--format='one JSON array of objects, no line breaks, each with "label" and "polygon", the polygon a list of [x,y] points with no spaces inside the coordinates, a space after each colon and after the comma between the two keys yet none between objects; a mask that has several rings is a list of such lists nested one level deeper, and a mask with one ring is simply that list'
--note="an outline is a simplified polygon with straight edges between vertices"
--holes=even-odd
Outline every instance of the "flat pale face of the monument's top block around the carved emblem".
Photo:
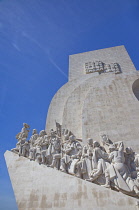
[{"label": "flat pale face of the monument's top block around the carved emblem", "polygon": [[70,55],[69,57],[69,81],[85,74],[86,62],[102,61],[104,63],[118,63],[122,72],[136,71],[124,46],[94,50],[85,53]]}]

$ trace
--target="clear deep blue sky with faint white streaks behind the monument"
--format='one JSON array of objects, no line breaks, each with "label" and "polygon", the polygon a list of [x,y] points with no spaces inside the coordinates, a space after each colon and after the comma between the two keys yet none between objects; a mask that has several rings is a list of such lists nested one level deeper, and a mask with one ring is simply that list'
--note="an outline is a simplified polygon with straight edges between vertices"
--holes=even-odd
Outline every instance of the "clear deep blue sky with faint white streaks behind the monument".
[{"label": "clear deep blue sky with faint white streaks behind the monument", "polygon": [[0,210],[16,210],[3,154],[44,129],[68,56],[125,45],[139,69],[139,0],[0,0]]}]

